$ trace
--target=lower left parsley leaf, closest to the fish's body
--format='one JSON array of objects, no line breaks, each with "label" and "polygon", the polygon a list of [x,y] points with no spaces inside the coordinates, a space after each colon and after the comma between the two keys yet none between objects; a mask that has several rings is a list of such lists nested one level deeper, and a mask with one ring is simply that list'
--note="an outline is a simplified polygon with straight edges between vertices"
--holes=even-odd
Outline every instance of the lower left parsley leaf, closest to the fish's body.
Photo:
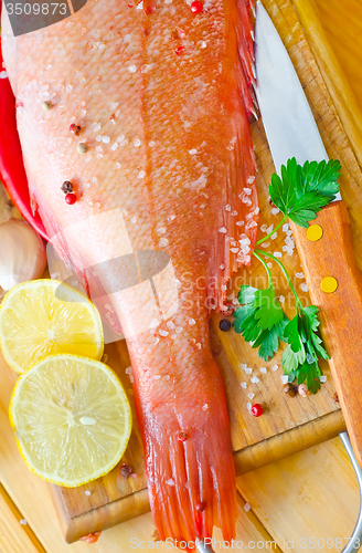
[{"label": "lower left parsley leaf, closest to the fish's body", "polygon": [[279,340],[288,319],[283,312],[274,289],[258,290],[243,285],[238,293],[242,306],[235,311],[234,330],[253,347],[259,347],[259,357],[269,361],[279,348]]}]

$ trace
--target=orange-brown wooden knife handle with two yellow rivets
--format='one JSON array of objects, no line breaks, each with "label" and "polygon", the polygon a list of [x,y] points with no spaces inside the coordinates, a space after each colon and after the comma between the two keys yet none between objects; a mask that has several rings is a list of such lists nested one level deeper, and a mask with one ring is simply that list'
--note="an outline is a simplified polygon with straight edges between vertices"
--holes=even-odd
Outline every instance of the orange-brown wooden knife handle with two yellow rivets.
[{"label": "orange-brown wooden knife handle with two yellow rivets", "polygon": [[[355,262],[351,225],[343,201],[319,213],[312,229],[291,223],[313,304],[320,309],[321,334],[347,428],[362,467],[362,275]],[[322,236],[318,240],[319,234]],[[308,238],[312,238],[310,240]],[[338,288],[334,292],[336,281]],[[323,291],[322,289],[329,291]]]}]

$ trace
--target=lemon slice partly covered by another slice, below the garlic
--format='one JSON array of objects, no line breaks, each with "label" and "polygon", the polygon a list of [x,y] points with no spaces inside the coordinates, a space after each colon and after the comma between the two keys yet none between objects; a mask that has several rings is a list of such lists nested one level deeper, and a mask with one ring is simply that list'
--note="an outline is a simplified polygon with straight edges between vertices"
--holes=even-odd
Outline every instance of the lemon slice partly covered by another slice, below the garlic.
[{"label": "lemon slice partly covered by another slice, below the garlic", "polygon": [[87,298],[63,282],[22,282],[8,292],[0,306],[0,345],[17,373],[51,354],[100,359],[102,320]]}]

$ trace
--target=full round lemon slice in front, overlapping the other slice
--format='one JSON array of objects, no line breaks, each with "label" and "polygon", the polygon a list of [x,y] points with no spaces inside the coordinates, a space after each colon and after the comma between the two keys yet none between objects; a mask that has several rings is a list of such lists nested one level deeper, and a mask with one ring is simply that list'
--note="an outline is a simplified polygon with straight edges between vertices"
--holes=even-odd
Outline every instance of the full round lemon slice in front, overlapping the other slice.
[{"label": "full round lemon slice in front, overlapping the other slice", "polygon": [[9,416],[28,467],[66,488],[107,474],[124,455],[132,424],[115,373],[77,355],[44,357],[21,375]]}]

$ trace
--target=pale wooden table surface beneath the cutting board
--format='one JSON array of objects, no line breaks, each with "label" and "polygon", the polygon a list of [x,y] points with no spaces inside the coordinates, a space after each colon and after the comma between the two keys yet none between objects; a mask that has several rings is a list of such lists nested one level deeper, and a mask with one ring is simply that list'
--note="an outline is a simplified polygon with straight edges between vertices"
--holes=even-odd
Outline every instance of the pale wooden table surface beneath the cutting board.
[{"label": "pale wooden table surface beneath the cutting board", "polygon": [[[297,7],[298,3],[302,4],[302,11],[300,10],[299,12],[301,19],[306,17],[308,24],[310,24],[311,17],[307,9],[308,2],[306,0],[301,0],[300,2],[295,1]],[[348,13],[345,13],[348,3],[353,8],[352,13],[355,17],[354,34],[353,25],[349,21]],[[341,21],[344,22],[343,17],[347,17],[345,32],[348,31],[351,36],[350,50],[347,48],[348,54],[344,52],[344,55],[349,62],[351,62],[351,58],[354,59],[355,63],[353,73],[347,72],[347,74],[350,84],[358,86],[362,44],[360,42],[360,48],[356,46],[358,41],[361,41],[358,29],[359,18],[356,14],[361,13],[361,8],[353,1],[345,2],[343,8],[337,7],[334,0],[326,1],[324,3],[319,0],[318,6],[323,10],[326,28],[332,39],[336,40],[336,44],[341,39],[345,39]],[[313,23],[318,27],[318,20]],[[316,28],[313,28],[312,35],[316,36]],[[312,41],[309,42],[311,43]],[[319,42],[319,45],[321,43],[324,49],[322,49],[319,58],[322,67],[323,56],[326,59],[328,52],[326,53],[326,42]],[[338,50],[337,53],[342,56],[341,61],[343,63],[343,52]],[[330,64],[327,65],[327,70],[329,73],[331,72]],[[326,82],[328,77],[332,79],[329,73],[324,74]],[[361,81],[360,76],[360,86]],[[355,88],[355,92],[358,93],[358,88]],[[354,125],[350,124],[348,116],[351,114],[353,102],[349,97],[348,104],[343,104],[343,94],[345,96],[343,87],[341,91],[337,91],[334,103],[338,105],[340,102],[339,114],[342,119],[343,117],[345,118],[343,121],[344,128],[348,128],[348,125],[351,127],[349,138],[359,156],[359,133],[355,133],[353,129],[354,127],[359,127],[361,119],[359,118],[358,109],[353,108]],[[362,102],[362,96],[358,97]],[[219,338],[224,340],[224,335],[220,335]],[[72,550],[76,552],[86,551],[86,547],[89,546],[84,543],[64,544],[55,520],[47,484],[29,473],[17,453],[6,411],[7,397],[10,394],[11,387],[12,376],[8,373],[8,376],[4,376],[0,404],[2,438],[0,441],[0,480],[3,484],[0,497],[0,551],[7,553],[12,551],[43,551],[42,547],[45,547],[45,551],[51,553]],[[254,400],[257,400],[257,398],[255,397]],[[307,401],[310,400],[308,399]],[[336,410],[336,406],[333,407]],[[252,428],[252,426],[247,425],[247,427],[251,428],[249,436],[253,432],[257,435],[257,431],[260,431],[258,426]],[[233,436],[233,438],[234,444],[235,440],[237,442],[237,435]],[[238,491],[241,511],[237,531],[238,539],[243,540],[244,543],[247,540],[265,541],[268,539],[268,535],[272,535],[278,542],[281,551],[288,551],[284,545],[284,539],[290,540],[295,538],[292,550],[305,551],[302,541],[300,541],[301,538],[315,536],[317,539],[324,538],[326,540],[327,538],[344,538],[351,533],[356,520],[359,503],[356,484],[347,456],[338,439],[239,477]],[[247,513],[243,509],[244,501],[247,501],[252,505],[252,510]],[[14,505],[20,509],[21,513]],[[31,529],[30,525],[23,526],[19,524],[21,518],[26,518]],[[151,540],[153,532],[155,526],[151,515],[146,514],[104,532],[99,542],[92,545],[92,547],[98,552],[127,552],[131,551],[129,542],[131,536]],[[329,551],[341,551],[342,547],[337,545],[338,543]],[[252,551],[252,549],[245,547],[245,551]]]}]

